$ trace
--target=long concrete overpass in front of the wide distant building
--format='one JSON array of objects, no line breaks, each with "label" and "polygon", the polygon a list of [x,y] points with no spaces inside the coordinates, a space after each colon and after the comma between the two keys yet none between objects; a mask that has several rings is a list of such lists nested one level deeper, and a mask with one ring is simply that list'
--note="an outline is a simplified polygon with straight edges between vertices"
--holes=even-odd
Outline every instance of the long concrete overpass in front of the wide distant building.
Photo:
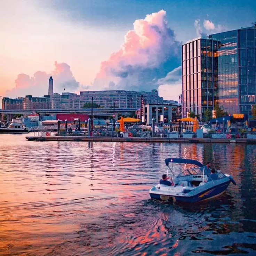
[{"label": "long concrete overpass in front of the wide distant building", "polygon": [[[129,108],[129,109],[121,109],[121,108],[115,108],[115,113],[134,113],[137,109],[135,108]],[[108,109],[93,109],[93,115],[95,117],[97,116],[111,116],[114,114],[113,108]],[[0,109],[0,115],[7,115],[7,120],[10,121],[13,114],[23,114],[28,115],[31,113],[37,113],[40,115],[46,115],[46,114],[91,114],[91,109],[21,109],[21,110],[2,110]]]}]

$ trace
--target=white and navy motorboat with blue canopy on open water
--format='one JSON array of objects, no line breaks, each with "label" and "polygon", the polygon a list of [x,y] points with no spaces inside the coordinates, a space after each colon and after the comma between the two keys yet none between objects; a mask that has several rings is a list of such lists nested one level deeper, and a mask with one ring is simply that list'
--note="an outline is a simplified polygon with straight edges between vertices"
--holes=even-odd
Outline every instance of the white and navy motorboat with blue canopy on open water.
[{"label": "white and navy motorboat with blue canopy on open water", "polygon": [[[216,170],[217,179],[213,180],[210,174],[207,175],[207,167],[196,160],[167,158],[165,163],[167,166],[167,177],[168,172],[170,172],[174,185],[158,184],[153,186],[149,191],[152,199],[195,203],[218,197],[226,191],[231,182],[236,185],[231,175],[223,174],[220,170]],[[169,163],[171,163],[172,169]],[[173,163],[196,167],[186,168],[185,166],[185,169],[182,168],[182,171],[175,176]]]}]

